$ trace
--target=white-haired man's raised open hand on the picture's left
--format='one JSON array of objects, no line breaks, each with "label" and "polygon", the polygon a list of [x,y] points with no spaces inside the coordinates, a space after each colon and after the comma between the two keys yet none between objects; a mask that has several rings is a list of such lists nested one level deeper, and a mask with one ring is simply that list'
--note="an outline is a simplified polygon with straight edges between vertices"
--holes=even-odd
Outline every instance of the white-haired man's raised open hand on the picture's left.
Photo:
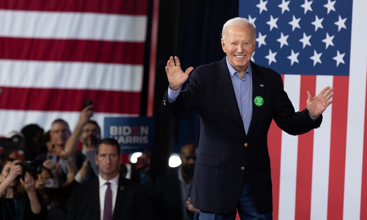
[{"label": "white-haired man's raised open hand on the picture's left", "polygon": [[194,67],[189,67],[185,72],[182,71],[180,60],[175,56],[175,60],[171,56],[167,61],[166,72],[168,82],[170,82],[170,87],[172,90],[178,90],[182,84],[189,78],[189,73],[194,69]]}]

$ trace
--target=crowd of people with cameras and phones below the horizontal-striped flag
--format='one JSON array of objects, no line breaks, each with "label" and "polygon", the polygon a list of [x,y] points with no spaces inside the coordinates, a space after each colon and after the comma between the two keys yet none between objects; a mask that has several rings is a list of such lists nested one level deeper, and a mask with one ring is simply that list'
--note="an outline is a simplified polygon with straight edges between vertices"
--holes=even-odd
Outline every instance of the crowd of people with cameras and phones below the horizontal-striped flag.
[{"label": "crowd of people with cameras and phones below the horizontal-striped flag", "polygon": [[102,139],[91,120],[92,107],[72,133],[55,119],[46,133],[29,124],[0,143],[0,219],[198,219],[189,203],[196,147],[183,146],[182,165],[153,182],[150,153],[122,163],[119,143]]}]

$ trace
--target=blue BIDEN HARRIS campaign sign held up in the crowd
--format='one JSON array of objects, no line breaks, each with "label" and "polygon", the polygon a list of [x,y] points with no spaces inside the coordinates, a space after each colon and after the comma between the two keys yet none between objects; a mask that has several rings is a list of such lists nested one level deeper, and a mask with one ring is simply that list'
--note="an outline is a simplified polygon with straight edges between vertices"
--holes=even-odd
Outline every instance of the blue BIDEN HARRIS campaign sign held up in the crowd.
[{"label": "blue BIDEN HARRIS campaign sign held up in the crowd", "polygon": [[154,137],[153,117],[106,117],[105,137],[120,143],[121,153],[151,150]]}]

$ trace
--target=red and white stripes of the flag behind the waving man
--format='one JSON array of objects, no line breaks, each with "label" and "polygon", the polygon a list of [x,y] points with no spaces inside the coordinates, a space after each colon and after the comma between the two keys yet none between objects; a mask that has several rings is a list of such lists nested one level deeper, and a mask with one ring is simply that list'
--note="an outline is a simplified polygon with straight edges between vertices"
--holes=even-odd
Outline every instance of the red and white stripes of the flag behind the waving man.
[{"label": "red and white stripes of the flag behind the waving man", "polygon": [[367,219],[366,7],[353,1],[349,77],[282,75],[296,111],[307,90],[333,86],[335,96],[320,128],[291,136],[270,126],[275,220]]}]

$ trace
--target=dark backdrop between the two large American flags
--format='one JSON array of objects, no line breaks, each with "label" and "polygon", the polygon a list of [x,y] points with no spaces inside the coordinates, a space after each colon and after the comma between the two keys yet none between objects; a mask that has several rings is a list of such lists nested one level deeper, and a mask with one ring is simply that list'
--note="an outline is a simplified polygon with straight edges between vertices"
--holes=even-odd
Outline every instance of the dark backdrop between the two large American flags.
[{"label": "dark backdrop between the two large American flags", "polygon": [[[152,13],[152,0],[150,1]],[[161,114],[160,106],[168,88],[164,67],[170,56],[178,56],[182,69],[198,67],[219,61],[225,53],[221,47],[221,32],[224,23],[238,16],[238,0],[160,0],[159,29],[157,42],[157,63],[155,82],[155,144],[152,149],[152,173],[160,176],[167,172],[171,152],[179,152],[185,143],[199,142],[200,124],[196,112],[186,120],[167,120]],[[149,16],[150,17],[150,16]],[[147,39],[150,39],[148,20]],[[149,64],[150,42],[146,45],[146,63]],[[187,82],[186,82],[187,83]],[[146,115],[148,68],[145,68],[141,115]]]}]

